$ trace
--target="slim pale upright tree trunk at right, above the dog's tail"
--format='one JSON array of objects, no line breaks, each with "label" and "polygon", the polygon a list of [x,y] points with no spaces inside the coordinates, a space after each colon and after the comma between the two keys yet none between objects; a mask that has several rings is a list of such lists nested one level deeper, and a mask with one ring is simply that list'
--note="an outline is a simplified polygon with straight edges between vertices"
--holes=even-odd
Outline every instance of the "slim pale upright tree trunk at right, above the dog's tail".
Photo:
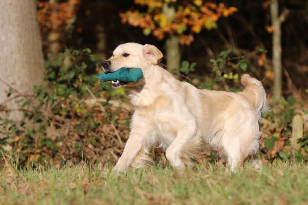
[{"label": "slim pale upright tree trunk at right, above the dog's tail", "polygon": [[279,19],[278,0],[271,0],[270,13],[273,31],[273,70],[274,70],[274,98],[279,99],[282,90],[282,65],[281,65],[281,22]]}]

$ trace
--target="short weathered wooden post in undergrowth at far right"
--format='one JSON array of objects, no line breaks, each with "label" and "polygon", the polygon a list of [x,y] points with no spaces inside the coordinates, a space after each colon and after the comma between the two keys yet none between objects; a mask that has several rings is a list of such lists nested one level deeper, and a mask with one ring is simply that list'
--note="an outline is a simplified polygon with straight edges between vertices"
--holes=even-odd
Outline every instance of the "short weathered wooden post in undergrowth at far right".
[{"label": "short weathered wooden post in undergrowth at far right", "polygon": [[297,143],[299,138],[303,137],[303,117],[301,115],[295,115],[292,121],[292,137],[291,146],[298,150],[300,145]]}]

